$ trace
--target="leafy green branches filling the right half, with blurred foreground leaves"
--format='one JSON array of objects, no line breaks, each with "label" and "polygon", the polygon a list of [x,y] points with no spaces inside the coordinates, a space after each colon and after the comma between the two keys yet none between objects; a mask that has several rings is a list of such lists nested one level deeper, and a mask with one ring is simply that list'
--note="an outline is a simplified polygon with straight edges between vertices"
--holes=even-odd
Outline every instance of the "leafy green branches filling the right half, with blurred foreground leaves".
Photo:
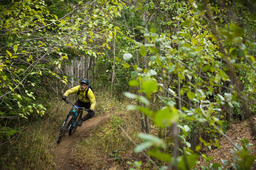
[{"label": "leafy green branches filling the right half, with blurred foreground leaves", "polygon": [[[151,156],[163,158],[162,161],[171,163],[176,169],[191,169],[197,158],[188,142],[195,139],[192,139],[191,129],[196,127],[196,131],[202,133],[204,138],[200,140],[207,147],[219,146],[218,140],[213,142],[212,139],[219,136],[217,132],[222,132],[222,128],[225,131],[228,129],[224,109],[231,108],[234,114],[240,117],[239,114],[244,114],[242,110],[247,113],[251,111],[246,109],[247,103],[255,104],[255,91],[245,90],[254,89],[252,77],[255,77],[255,35],[249,35],[248,30],[241,26],[243,23],[252,28],[248,18],[253,14],[241,4],[231,1],[224,7],[218,2],[204,4],[201,1],[168,1],[157,5],[150,2],[146,6],[142,3],[140,5],[138,9],[144,12],[152,10],[152,16],[154,10],[160,9],[159,18],[158,14],[155,15],[155,22],[160,25],[154,23],[157,29],[148,29],[150,31],[141,28],[147,38],[147,44],[129,39],[133,44],[139,45],[142,57],[150,57],[148,60],[143,58],[146,65],[130,63],[134,68],[130,85],[139,90],[137,93],[124,95],[139,99],[147,108],[152,107],[156,101],[155,97],[158,97],[161,105],[153,114],[147,114],[150,113],[147,110],[143,112],[141,107],[136,105],[133,109],[150,115],[155,125],[160,128],[170,128],[180,122],[178,126],[183,134],[179,135],[179,142],[183,145],[177,148],[181,156],[172,160],[168,159],[171,158],[169,153],[162,156],[158,153],[159,148],[166,147],[164,140],[156,140],[154,137],[144,139],[139,135],[144,142],[138,145],[135,151],[151,149]],[[250,17],[242,16],[241,12],[237,13],[240,19],[244,19],[241,22],[240,19],[229,15],[228,10],[237,11],[236,7],[250,13]],[[167,11],[168,15],[172,11],[173,17],[167,17]],[[153,21],[150,22],[152,24]],[[159,29],[162,26],[165,29]],[[241,74],[244,76],[241,77]],[[244,77],[250,78],[245,80]],[[181,109],[176,103],[181,103]],[[253,105],[251,104],[249,106]],[[220,130],[218,127],[221,127]],[[169,144],[172,142],[171,138]],[[180,164],[176,164],[178,160]],[[210,168],[218,167],[219,164],[212,164]]]}]

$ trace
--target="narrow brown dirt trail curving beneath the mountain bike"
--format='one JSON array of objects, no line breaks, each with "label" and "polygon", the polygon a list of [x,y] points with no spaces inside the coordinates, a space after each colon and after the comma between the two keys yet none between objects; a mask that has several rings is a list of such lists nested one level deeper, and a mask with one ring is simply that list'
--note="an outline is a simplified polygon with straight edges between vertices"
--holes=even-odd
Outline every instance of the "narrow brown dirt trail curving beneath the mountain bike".
[{"label": "narrow brown dirt trail curving beneath the mountain bike", "polygon": [[[114,114],[115,115],[115,114]],[[81,127],[77,127],[75,133],[72,136],[68,135],[68,132],[62,138],[61,143],[56,144],[52,150],[53,162],[56,164],[56,168],[60,170],[76,169],[76,162],[72,162],[75,158],[73,153],[73,144],[86,136],[86,133],[95,128],[101,121],[107,121],[111,117],[108,115],[94,116],[89,120],[86,120]]]}]

